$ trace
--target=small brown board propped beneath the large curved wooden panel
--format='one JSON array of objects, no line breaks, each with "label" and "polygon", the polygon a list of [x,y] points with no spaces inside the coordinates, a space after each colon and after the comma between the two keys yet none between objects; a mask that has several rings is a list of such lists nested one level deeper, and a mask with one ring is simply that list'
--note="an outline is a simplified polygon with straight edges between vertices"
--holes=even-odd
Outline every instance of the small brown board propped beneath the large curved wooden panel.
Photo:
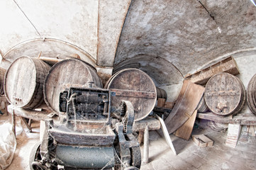
[{"label": "small brown board propped beneath the large curved wooden panel", "polygon": [[189,137],[191,136],[191,132],[194,128],[194,123],[196,120],[196,113],[195,110],[194,113],[189,117],[186,123],[184,123],[176,132],[175,135],[177,137],[181,137],[184,140],[189,140]]}]

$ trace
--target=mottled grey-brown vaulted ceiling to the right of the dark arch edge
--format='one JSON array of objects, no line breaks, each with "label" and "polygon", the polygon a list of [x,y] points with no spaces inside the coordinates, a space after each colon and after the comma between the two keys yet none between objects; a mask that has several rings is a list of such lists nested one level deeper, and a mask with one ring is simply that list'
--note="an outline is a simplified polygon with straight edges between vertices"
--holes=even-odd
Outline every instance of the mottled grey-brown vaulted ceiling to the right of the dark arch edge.
[{"label": "mottled grey-brown vaulted ceiling to the right of the dark arch edge", "polygon": [[[143,62],[136,67],[152,74],[160,84],[177,84],[181,74],[193,73],[223,55],[255,50],[256,7],[250,0],[201,0],[201,4],[197,0],[132,1],[115,68],[129,61],[132,67]],[[160,60],[152,62],[152,58]],[[152,73],[171,68],[177,70],[162,76]]]}]

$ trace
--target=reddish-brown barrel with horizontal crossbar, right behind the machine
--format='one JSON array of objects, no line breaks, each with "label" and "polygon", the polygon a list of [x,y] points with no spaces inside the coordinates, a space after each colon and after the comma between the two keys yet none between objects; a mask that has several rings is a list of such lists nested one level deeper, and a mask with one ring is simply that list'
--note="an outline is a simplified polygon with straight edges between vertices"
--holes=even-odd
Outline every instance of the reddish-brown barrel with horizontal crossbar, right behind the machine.
[{"label": "reddish-brown barrel with horizontal crossbar, right behind the machine", "polygon": [[135,121],[146,118],[155,107],[157,90],[154,82],[140,69],[123,69],[107,82],[111,95],[111,108],[118,108],[121,101],[130,101],[135,111]]}]

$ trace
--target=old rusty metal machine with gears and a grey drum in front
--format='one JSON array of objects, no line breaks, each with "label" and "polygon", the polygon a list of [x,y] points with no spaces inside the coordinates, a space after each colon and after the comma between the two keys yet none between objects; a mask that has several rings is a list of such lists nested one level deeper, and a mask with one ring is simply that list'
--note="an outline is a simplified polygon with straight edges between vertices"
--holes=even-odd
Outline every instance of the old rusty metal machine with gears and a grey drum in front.
[{"label": "old rusty metal machine with gears and a grey drum in front", "polygon": [[140,147],[133,135],[133,106],[121,102],[124,116],[113,125],[106,89],[70,87],[60,93],[59,122],[47,123],[40,162],[33,169],[139,169]]}]

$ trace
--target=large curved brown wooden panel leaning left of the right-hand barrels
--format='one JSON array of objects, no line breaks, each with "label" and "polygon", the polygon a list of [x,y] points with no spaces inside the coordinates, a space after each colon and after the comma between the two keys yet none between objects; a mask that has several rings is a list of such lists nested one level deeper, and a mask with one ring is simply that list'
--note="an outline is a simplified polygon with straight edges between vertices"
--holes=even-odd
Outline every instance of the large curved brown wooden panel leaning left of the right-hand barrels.
[{"label": "large curved brown wooden panel leaning left of the right-hand barrels", "polygon": [[172,109],[172,112],[165,119],[169,133],[181,127],[191,116],[198,106],[201,96],[204,94],[204,87],[184,80],[182,90]]}]

